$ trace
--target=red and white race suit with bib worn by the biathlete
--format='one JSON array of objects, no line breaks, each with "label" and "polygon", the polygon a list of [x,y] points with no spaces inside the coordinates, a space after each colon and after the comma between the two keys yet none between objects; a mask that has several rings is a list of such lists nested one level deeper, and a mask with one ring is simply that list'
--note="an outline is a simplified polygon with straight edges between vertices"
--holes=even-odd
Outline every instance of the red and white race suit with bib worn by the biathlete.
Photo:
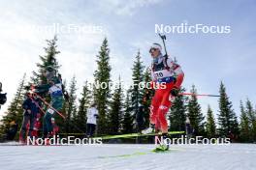
[{"label": "red and white race suit with bib worn by the biathlete", "polygon": [[161,85],[155,89],[150,106],[150,123],[155,125],[156,130],[168,132],[166,113],[172,105],[170,92],[173,88],[180,88],[184,73],[171,58],[161,55],[158,57],[158,62],[151,66],[151,76],[151,85],[161,83],[165,86]]}]

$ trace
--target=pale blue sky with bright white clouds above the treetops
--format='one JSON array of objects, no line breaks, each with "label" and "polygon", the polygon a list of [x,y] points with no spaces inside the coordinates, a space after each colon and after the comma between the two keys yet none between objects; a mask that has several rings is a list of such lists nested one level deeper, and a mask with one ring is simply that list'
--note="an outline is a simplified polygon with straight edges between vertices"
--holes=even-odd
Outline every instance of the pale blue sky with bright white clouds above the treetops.
[{"label": "pale blue sky with bright white clouds above the treetops", "polygon": [[[240,114],[240,99],[256,101],[255,7],[253,0],[0,0],[0,81],[8,93],[0,115],[13,99],[22,74],[29,77],[37,69],[45,40],[55,34],[60,72],[67,80],[76,75],[80,94],[84,81],[93,79],[95,56],[105,37],[111,48],[112,79],[120,74],[128,82],[138,49],[144,64],[150,65],[148,46],[160,42],[155,24],[181,23],[230,26],[230,34],[167,34],[167,48],[185,72],[186,89],[195,84],[198,93],[217,94],[222,80]],[[53,25],[87,30],[55,32],[50,29]],[[217,113],[217,99],[199,100],[204,112],[210,104]]]}]

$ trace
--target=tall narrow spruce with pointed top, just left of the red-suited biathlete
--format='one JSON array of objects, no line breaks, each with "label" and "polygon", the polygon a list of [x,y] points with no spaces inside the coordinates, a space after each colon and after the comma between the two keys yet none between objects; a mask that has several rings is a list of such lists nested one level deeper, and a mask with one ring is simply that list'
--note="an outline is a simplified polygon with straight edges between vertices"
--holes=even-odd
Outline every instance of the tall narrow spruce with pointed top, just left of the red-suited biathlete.
[{"label": "tall narrow spruce with pointed top, just left of the red-suited biathlete", "polygon": [[139,85],[144,81],[144,66],[141,60],[141,53],[140,51],[138,51],[132,68],[133,86],[131,88],[131,97],[134,117],[136,117],[136,115],[138,114],[139,106],[142,104],[144,98],[144,89],[140,88]]}]

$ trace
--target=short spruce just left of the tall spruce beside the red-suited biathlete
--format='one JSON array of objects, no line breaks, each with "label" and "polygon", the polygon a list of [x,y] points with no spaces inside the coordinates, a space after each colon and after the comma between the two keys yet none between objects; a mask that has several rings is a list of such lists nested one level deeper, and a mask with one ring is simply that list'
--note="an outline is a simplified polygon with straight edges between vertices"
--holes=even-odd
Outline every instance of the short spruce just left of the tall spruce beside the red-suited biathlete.
[{"label": "short spruce just left of the tall spruce beside the red-suited biathlete", "polygon": [[132,115],[132,101],[129,90],[126,92],[125,104],[124,104],[124,115],[122,119],[121,131],[124,134],[134,132],[134,118]]}]

